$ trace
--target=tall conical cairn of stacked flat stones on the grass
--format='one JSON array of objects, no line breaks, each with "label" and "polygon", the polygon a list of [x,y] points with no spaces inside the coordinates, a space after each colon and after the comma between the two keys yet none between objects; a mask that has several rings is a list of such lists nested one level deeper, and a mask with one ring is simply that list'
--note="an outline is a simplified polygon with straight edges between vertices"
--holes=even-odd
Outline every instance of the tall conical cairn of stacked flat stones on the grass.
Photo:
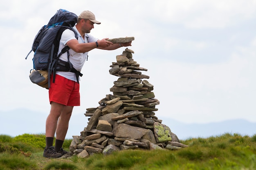
[{"label": "tall conical cairn of stacked flat stones on the grass", "polygon": [[[129,38],[124,38],[127,42]],[[113,40],[113,39],[112,39]],[[114,43],[114,42],[113,42]],[[120,42],[115,42],[120,43]],[[87,108],[88,125],[80,136],[73,136],[69,155],[88,157],[94,153],[110,154],[128,149],[171,149],[187,147],[181,144],[170,128],[155,116],[160,102],[155,99],[147,71],[132,59],[128,48],[112,62],[111,75],[119,77],[110,88],[113,94],[99,101],[97,108]]]}]

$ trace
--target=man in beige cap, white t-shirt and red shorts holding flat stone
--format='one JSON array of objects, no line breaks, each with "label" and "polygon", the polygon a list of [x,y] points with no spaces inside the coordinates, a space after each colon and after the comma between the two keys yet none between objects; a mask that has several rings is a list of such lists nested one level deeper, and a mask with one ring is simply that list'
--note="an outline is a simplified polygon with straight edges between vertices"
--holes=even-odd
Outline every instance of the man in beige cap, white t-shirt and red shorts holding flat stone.
[{"label": "man in beige cap, white t-shirt and red shorts holding flat stone", "polygon": [[[121,46],[131,46],[131,42],[113,44],[107,41],[108,38],[98,40],[88,34],[94,28],[94,24],[101,24],[95,20],[95,15],[90,11],[83,11],[74,26],[78,33],[78,40],[70,29],[63,31],[61,35],[59,51],[64,46],[69,46],[70,62],[77,71],[81,71],[83,64],[88,57],[88,51],[92,49],[115,50]],[[67,61],[67,53],[60,56],[61,60]],[[79,83],[75,73],[57,71],[55,82],[49,88],[50,113],[46,119],[46,147],[44,157],[58,158],[66,154],[62,145],[67,133],[68,123],[74,106],[80,106]],[[56,132],[55,147],[53,146]]]}]

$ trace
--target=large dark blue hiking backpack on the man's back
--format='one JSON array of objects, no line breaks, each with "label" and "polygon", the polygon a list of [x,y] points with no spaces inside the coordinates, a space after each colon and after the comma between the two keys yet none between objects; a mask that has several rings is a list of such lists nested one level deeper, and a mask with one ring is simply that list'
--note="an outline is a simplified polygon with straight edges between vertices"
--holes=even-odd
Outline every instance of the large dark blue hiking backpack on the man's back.
[{"label": "large dark blue hiking backpack on the man's back", "polygon": [[[61,35],[65,29],[74,31],[76,39],[78,35],[72,28],[77,22],[77,15],[64,9],[59,9],[56,14],[49,20],[47,25],[44,25],[34,38],[32,49],[28,55],[34,51],[33,69],[30,71],[30,79],[33,83],[40,85],[43,79],[47,79],[45,88],[50,87],[50,76],[53,74],[53,82],[55,81],[56,71],[69,71],[76,74],[77,83],[79,76],[83,74],[73,68],[69,60],[69,46],[65,46],[61,53],[58,54],[58,47],[61,40]],[[59,56],[67,52],[67,62],[60,60]],[[28,57],[27,55],[27,57]],[[27,60],[27,57],[25,59]],[[48,76],[42,77],[41,71],[47,71]],[[40,85],[41,86],[41,85]]]}]

